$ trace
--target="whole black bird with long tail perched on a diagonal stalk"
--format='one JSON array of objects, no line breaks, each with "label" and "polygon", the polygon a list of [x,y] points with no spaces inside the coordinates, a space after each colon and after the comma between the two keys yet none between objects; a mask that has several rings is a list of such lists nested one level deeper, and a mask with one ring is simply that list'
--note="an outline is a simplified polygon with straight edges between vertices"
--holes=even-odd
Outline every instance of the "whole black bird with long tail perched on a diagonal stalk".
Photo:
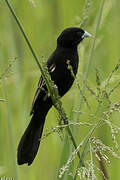
[{"label": "whole black bird with long tail perched on a diagonal stalk", "polygon": [[[57,39],[57,47],[49,57],[47,67],[61,97],[74,82],[68,63],[76,75],[79,61],[77,46],[89,36],[91,35],[88,32],[74,27],[65,29]],[[52,105],[51,97],[41,76],[30,112],[32,118],[18,145],[17,161],[19,165],[24,163],[30,165],[33,162],[40,145],[46,115]]]}]

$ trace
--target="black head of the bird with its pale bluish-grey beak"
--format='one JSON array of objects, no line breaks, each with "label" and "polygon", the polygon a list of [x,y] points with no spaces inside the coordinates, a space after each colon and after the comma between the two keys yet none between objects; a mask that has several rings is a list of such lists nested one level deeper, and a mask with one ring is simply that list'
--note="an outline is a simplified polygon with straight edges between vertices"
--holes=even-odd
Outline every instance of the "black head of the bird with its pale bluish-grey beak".
[{"label": "black head of the bird with its pale bluish-grey beak", "polygon": [[91,35],[81,28],[73,27],[65,29],[57,39],[58,47],[76,48],[77,45],[86,37]]}]

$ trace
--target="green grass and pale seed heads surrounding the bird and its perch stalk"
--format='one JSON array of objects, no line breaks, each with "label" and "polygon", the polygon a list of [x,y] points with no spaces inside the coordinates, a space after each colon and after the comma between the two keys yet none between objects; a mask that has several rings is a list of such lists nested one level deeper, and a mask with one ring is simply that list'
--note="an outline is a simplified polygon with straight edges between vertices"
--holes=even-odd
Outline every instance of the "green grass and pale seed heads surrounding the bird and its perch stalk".
[{"label": "green grass and pale seed heads surrounding the bird and its perch stalk", "polygon": [[[118,179],[119,3],[116,0],[105,1],[102,9],[100,4],[103,5],[104,1],[11,2],[40,60],[43,55],[47,59],[56,46],[56,37],[65,27],[82,24],[93,34],[93,39],[81,44],[77,79],[70,92],[62,98],[69,126],[58,125],[58,114],[52,108],[33,165],[18,166],[15,163],[16,149],[30,119],[29,109],[40,73],[5,1],[1,1],[0,176],[17,179],[18,169],[19,179],[46,180],[59,179],[60,176],[64,180]],[[54,13],[57,13],[55,22]],[[98,17],[102,17],[100,25]],[[66,127],[71,128],[77,149],[73,148],[70,137],[65,133]],[[79,166],[78,150],[85,167]]]}]

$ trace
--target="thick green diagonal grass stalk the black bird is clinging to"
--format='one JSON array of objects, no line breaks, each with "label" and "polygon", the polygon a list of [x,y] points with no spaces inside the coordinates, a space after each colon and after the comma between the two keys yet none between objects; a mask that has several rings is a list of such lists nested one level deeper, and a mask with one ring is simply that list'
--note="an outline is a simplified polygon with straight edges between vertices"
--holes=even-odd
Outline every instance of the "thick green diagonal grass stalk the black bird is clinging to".
[{"label": "thick green diagonal grass stalk the black bird is clinging to", "polygon": [[[55,98],[54,95],[53,95],[53,91],[54,91],[54,90],[53,90],[53,88],[50,86],[50,83],[49,83],[48,79],[46,78],[46,75],[45,75],[45,73],[44,73],[44,70],[43,70],[42,66],[40,65],[39,60],[38,60],[38,58],[37,58],[37,56],[36,56],[36,53],[35,53],[32,45],[31,45],[31,43],[30,43],[30,41],[29,41],[29,39],[28,39],[28,37],[27,37],[27,35],[26,35],[26,33],[25,33],[25,31],[24,31],[24,29],[23,29],[23,27],[22,27],[22,25],[21,25],[21,23],[20,23],[20,21],[19,21],[19,19],[18,19],[18,17],[16,16],[15,11],[14,11],[14,9],[12,8],[10,2],[9,2],[8,0],[5,0],[5,2],[6,2],[6,4],[7,4],[7,6],[8,6],[8,8],[10,9],[10,11],[11,11],[11,13],[12,13],[12,15],[13,15],[13,17],[14,17],[14,19],[15,19],[15,21],[16,21],[16,23],[17,23],[17,25],[18,25],[18,27],[19,27],[22,35],[23,35],[23,37],[25,38],[25,41],[26,41],[26,43],[27,43],[27,45],[28,45],[28,47],[29,47],[29,49],[30,49],[30,51],[31,51],[31,53],[32,53],[32,55],[33,55],[33,57],[34,57],[37,65],[38,65],[38,67],[39,67],[39,69],[40,69],[40,71],[41,71],[42,77],[43,77],[43,79],[44,79],[44,81],[45,81],[45,84],[46,84],[46,86],[47,86],[47,88],[48,88],[48,91],[49,91],[49,93],[50,93],[50,95],[51,95],[51,99],[52,99],[52,101],[53,101],[53,104],[54,104],[55,108],[58,110],[58,108],[56,107],[56,104],[55,104],[55,103],[56,103],[56,100],[57,100],[58,98],[57,98],[57,97]],[[58,102],[58,103],[59,103],[59,102]],[[59,103],[59,107],[61,107],[61,104],[60,104],[60,103]],[[58,111],[58,112],[61,113],[60,115],[61,115],[62,119],[64,120],[64,124],[66,124],[67,116],[66,116],[66,113],[64,112],[64,109],[61,107],[60,111]],[[75,147],[75,149],[76,149],[76,148],[77,148],[77,145],[76,145],[75,139],[74,139],[74,137],[73,137],[73,134],[72,134],[72,132],[71,132],[71,129],[70,129],[70,127],[67,127],[66,129],[67,129],[68,134],[69,134],[69,136],[70,136],[70,138],[71,138],[71,140],[72,140],[72,143],[73,143],[73,145],[74,145],[74,147]],[[77,154],[78,154],[78,157],[79,157],[79,159],[80,159],[80,153],[78,152]]]}]

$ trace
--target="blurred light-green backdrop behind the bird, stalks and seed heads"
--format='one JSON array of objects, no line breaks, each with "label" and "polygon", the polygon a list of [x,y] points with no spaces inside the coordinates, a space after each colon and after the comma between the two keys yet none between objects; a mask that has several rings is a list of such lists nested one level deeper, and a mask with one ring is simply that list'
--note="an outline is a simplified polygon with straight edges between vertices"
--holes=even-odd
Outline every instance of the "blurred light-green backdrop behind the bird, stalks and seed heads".
[{"label": "blurred light-green backdrop behind the bird, stalks and seed heads", "polygon": [[[86,2],[89,7],[85,9]],[[56,47],[56,38],[64,28],[79,26],[85,19],[84,29],[92,34],[92,38],[84,40],[79,47],[78,79],[82,86],[81,74],[84,74],[87,66],[101,1],[11,0],[11,3],[40,60],[42,56],[47,60]],[[104,3],[94,54],[89,67],[88,82],[93,89],[96,87],[95,68],[99,69],[101,81],[104,82],[114,69],[119,57],[120,2],[109,0]],[[119,80],[119,72],[118,70],[117,80]],[[0,177],[6,176],[22,180],[59,179],[58,170],[69,158],[72,144],[68,137],[65,141],[65,137],[62,136],[61,139],[58,133],[52,133],[43,139],[37,157],[30,167],[15,164],[17,145],[30,121],[29,112],[40,71],[3,0],[0,1],[0,77],[3,78],[3,80],[0,79],[0,99],[8,98],[7,102],[0,101]],[[91,97],[90,93],[87,93],[86,96],[93,113],[96,109],[96,100]],[[118,88],[112,96],[112,101],[116,102],[119,98],[120,89]],[[62,98],[62,102],[68,117],[72,117],[72,122],[76,121],[76,113],[71,112],[71,109],[77,110],[80,103],[80,93],[76,83]],[[82,111],[90,113],[85,103]],[[52,108],[46,119],[44,133],[47,128],[50,129],[57,125],[57,118],[57,112]],[[79,118],[82,122],[93,123],[92,118],[88,115]],[[113,120],[117,126],[120,124],[119,116],[116,115]],[[74,132],[77,131],[77,134],[74,133],[74,135],[78,144],[89,128],[85,126],[74,128]],[[111,134],[106,129],[98,129],[97,134],[99,137],[102,136],[104,143],[111,145]],[[64,142],[66,149],[64,149]],[[112,156],[110,160],[111,166],[107,165],[106,167],[109,179],[117,180],[120,178],[120,160]],[[97,173],[97,177],[102,179],[100,173]],[[70,178],[69,175],[63,177],[63,179],[69,180]]]}]

